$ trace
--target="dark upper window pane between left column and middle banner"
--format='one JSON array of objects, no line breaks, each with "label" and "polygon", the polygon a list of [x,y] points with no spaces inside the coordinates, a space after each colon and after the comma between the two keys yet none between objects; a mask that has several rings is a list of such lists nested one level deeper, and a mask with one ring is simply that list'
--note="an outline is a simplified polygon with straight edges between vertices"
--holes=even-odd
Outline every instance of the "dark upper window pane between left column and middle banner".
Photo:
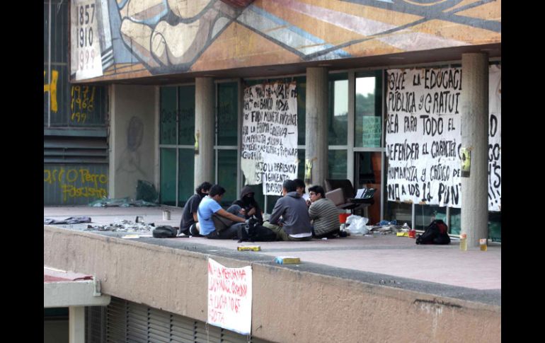
[{"label": "dark upper window pane between left column and middle banner", "polygon": [[237,83],[218,83],[217,144],[237,145],[238,96]]}]

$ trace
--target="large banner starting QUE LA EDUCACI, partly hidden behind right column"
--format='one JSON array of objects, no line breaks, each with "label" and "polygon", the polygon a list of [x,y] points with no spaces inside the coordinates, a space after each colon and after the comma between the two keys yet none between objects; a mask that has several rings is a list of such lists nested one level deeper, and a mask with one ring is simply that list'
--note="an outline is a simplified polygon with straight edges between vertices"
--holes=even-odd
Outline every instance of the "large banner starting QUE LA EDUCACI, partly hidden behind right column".
[{"label": "large banner starting QUE LA EDUCACI, partly hidden behind right column", "polygon": [[[461,207],[461,68],[391,69],[387,86],[388,200]],[[491,68],[492,88],[501,93]],[[490,110],[489,209],[498,211],[501,105]]]}]

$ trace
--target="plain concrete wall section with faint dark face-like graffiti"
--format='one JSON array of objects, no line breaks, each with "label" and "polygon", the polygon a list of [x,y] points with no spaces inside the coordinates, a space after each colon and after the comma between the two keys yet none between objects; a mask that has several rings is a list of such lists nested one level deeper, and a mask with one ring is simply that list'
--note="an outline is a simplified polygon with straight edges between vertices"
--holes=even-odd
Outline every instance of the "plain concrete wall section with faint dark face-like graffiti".
[{"label": "plain concrete wall section with faint dark face-like graffiti", "polygon": [[110,88],[110,198],[135,199],[138,180],[156,180],[156,101],[154,86]]}]

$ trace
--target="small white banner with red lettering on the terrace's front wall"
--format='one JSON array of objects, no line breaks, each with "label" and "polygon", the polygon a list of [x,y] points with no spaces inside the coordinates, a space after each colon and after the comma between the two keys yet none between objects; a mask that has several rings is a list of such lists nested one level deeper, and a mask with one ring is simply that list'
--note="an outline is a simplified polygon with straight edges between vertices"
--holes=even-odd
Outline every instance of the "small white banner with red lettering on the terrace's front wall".
[{"label": "small white banner with red lettering on the terrace's front wall", "polygon": [[252,267],[227,268],[208,259],[208,320],[212,325],[250,335]]}]

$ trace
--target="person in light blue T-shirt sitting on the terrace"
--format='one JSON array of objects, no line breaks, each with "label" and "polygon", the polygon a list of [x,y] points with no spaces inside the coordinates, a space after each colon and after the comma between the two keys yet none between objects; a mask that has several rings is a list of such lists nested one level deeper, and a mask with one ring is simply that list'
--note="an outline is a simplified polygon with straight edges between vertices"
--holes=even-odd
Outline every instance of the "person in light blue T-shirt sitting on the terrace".
[{"label": "person in light blue T-shirt sitting on the terrace", "polygon": [[197,210],[197,230],[201,236],[211,239],[230,239],[238,234],[239,226],[246,225],[246,219],[236,216],[240,207],[233,205],[224,210],[219,202],[225,194],[225,188],[213,185],[207,197],[202,199]]}]

